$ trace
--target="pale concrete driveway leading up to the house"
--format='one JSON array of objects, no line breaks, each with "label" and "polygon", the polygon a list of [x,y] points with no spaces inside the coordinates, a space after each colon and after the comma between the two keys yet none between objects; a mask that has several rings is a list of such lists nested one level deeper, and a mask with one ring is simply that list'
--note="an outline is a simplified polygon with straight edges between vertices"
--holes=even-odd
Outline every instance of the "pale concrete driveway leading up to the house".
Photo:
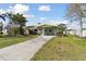
[{"label": "pale concrete driveway leading up to the house", "polygon": [[27,61],[53,36],[38,38],[0,49],[0,61]]}]

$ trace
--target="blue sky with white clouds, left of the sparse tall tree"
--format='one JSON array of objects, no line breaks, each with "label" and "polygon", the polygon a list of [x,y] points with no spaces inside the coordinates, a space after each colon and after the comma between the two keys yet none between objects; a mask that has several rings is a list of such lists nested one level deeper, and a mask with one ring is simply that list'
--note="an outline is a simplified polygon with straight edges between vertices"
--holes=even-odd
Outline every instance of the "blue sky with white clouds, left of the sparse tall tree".
[{"label": "blue sky with white clouds, left of the sparse tall tree", "polygon": [[65,22],[65,13],[69,9],[67,3],[1,3],[0,12],[3,10],[14,10],[15,12],[23,13],[26,18],[26,25],[54,24]]}]

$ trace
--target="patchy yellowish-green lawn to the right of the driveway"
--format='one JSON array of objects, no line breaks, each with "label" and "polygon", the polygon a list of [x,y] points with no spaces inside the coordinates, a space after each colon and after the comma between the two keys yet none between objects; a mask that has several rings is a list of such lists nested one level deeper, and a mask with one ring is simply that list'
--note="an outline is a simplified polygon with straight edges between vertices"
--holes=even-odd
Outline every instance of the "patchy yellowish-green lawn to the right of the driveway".
[{"label": "patchy yellowish-green lawn to the right of the driveway", "polygon": [[54,37],[34,55],[32,61],[86,61],[86,39],[74,36]]}]

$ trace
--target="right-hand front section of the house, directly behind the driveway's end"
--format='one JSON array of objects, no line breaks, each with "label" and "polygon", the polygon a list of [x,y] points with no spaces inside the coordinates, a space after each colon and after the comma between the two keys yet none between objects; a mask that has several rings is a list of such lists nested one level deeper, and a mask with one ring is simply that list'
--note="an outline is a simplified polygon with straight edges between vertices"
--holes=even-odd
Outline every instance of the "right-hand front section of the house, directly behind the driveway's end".
[{"label": "right-hand front section of the house, directly behind the driveway's end", "polygon": [[57,35],[58,28],[53,25],[40,25],[37,27],[38,34],[41,35]]}]

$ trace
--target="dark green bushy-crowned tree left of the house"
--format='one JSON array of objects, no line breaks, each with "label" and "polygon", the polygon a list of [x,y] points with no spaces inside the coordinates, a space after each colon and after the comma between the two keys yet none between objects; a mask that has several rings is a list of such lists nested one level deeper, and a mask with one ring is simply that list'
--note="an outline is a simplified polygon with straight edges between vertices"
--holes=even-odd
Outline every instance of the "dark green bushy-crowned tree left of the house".
[{"label": "dark green bushy-crowned tree left of the house", "polygon": [[11,18],[15,26],[20,26],[20,34],[24,35],[23,27],[25,26],[25,23],[27,22],[26,17],[24,17],[23,14],[17,13],[17,14],[13,14]]}]

